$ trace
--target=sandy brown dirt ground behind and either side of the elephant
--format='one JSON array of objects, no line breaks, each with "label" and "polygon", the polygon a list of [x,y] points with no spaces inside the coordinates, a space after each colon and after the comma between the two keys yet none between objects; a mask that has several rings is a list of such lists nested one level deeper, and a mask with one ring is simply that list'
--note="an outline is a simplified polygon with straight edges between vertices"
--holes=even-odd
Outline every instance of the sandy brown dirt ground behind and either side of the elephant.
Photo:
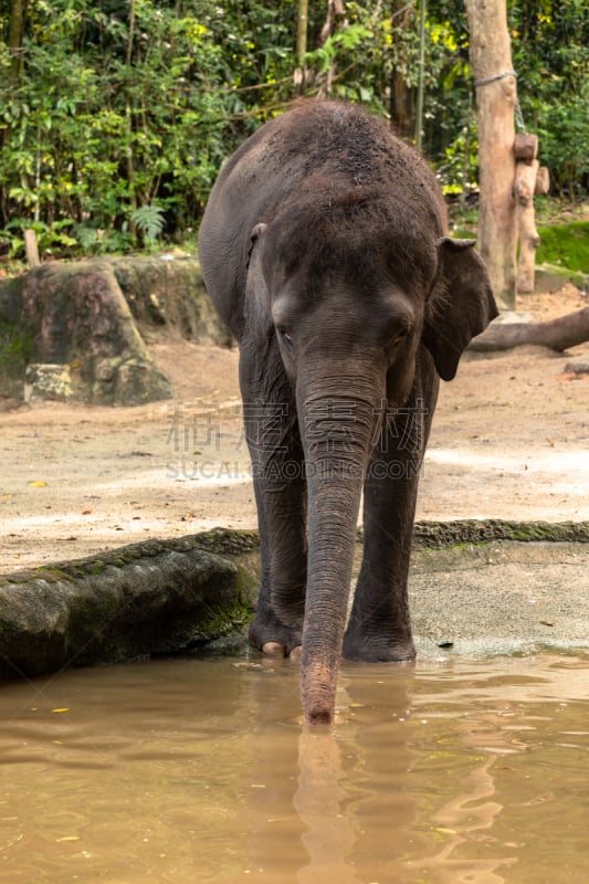
[{"label": "sandy brown dirt ground behind and either side of the elephant", "polygon": [[[520,298],[548,319],[586,307],[568,286]],[[106,409],[0,400],[0,571],[150,537],[255,527],[238,352],[186,341],[154,356],[175,399]],[[418,519],[589,519],[589,375],[564,355],[466,355],[442,385]]]}]

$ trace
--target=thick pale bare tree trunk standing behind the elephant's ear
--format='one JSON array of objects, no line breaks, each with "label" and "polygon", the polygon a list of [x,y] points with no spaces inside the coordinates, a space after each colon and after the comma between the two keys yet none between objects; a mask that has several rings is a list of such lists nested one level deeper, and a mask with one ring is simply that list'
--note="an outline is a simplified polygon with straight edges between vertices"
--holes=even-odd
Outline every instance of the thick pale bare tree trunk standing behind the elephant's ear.
[{"label": "thick pale bare tree trunk standing behind the elephant's ear", "polygon": [[506,2],[466,0],[466,12],[478,109],[478,251],[487,265],[495,298],[502,307],[513,309],[517,241],[513,198],[517,91]]}]

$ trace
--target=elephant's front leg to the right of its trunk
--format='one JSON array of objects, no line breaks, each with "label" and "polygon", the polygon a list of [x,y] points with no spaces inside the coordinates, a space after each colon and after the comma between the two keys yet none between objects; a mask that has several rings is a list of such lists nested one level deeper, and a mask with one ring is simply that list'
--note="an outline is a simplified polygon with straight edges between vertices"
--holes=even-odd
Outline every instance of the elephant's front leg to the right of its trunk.
[{"label": "elephant's front leg to the right of its trunk", "polygon": [[388,410],[365,483],[364,558],[348,622],[348,660],[409,661],[416,656],[407,580],[420,471],[437,385]]}]

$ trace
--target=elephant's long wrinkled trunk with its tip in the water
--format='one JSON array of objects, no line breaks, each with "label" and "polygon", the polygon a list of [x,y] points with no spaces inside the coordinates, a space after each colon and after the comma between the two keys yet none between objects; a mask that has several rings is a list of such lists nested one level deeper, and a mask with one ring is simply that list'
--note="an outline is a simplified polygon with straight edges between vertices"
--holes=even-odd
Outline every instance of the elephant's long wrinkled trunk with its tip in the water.
[{"label": "elephant's long wrinkled trunk with its tip in the water", "polygon": [[[379,413],[380,385],[323,380],[298,392],[308,493],[308,571],[301,655],[306,724],[332,724],[360,496]],[[329,389],[338,393],[329,394]],[[354,393],[341,396],[343,389]],[[376,396],[375,396],[376,393]]]}]

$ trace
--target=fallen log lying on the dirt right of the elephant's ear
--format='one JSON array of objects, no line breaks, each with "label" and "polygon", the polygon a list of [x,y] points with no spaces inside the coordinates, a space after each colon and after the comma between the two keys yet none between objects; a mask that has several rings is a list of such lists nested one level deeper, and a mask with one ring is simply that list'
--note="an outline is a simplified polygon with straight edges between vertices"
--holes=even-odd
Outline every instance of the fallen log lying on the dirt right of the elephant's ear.
[{"label": "fallen log lying on the dirt right of the elephant's ear", "polygon": [[586,340],[589,340],[589,307],[548,323],[493,323],[471,341],[469,349],[486,352],[536,344],[561,352]]}]

